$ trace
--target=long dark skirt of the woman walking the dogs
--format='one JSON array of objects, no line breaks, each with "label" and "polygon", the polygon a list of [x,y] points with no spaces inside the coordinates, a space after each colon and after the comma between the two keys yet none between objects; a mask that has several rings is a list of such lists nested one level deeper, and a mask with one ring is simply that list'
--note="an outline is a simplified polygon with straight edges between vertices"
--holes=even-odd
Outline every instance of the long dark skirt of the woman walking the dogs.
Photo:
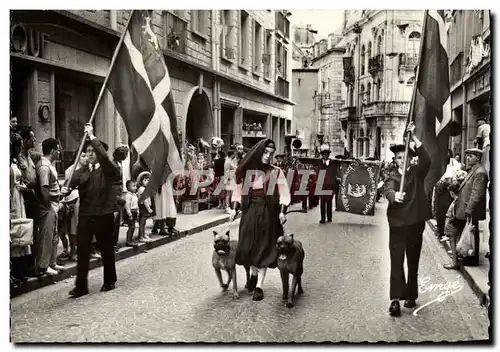
[{"label": "long dark skirt of the woman walking the dogs", "polygon": [[240,221],[236,263],[257,268],[276,268],[276,242],[283,235],[278,212],[264,196],[251,197]]}]

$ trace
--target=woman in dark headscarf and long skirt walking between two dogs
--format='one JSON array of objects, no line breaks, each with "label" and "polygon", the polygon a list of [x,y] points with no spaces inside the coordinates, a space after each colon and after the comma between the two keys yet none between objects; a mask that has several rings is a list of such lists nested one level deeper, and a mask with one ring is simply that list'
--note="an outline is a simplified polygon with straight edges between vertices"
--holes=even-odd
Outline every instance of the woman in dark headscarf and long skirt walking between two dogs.
[{"label": "woman in dark headscarf and long skirt walking between two dogs", "polygon": [[[250,267],[247,289],[253,291],[254,301],[264,298],[262,287],[267,268],[276,268],[276,241],[283,235],[286,208],[290,204],[285,175],[279,167],[271,165],[275,150],[271,139],[261,140],[250,149],[236,169],[232,197],[231,219],[239,209],[242,211],[236,263]],[[259,171],[262,173],[257,176]],[[244,184],[250,187],[243,187]],[[249,191],[244,192],[245,189]]]}]

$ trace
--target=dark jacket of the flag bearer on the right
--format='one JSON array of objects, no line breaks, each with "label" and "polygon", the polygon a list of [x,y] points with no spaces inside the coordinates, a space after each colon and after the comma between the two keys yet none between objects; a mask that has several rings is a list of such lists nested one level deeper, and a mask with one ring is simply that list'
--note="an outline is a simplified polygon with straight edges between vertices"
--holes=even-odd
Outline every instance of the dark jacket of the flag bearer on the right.
[{"label": "dark jacket of the flag bearer on the right", "polygon": [[390,227],[415,225],[432,217],[431,204],[424,191],[424,179],[429,171],[431,159],[423,146],[415,150],[418,165],[411,166],[406,172],[406,192],[403,203],[396,203],[394,197],[399,192],[401,174],[392,171],[385,180],[385,197],[389,200],[387,219]]}]

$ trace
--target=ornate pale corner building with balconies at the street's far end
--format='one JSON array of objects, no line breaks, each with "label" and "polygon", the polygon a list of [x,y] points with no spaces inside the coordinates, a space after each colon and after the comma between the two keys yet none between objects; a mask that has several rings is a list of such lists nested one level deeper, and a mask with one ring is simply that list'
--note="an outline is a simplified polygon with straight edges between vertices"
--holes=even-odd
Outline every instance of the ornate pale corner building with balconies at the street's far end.
[{"label": "ornate pale corner building with balconies at the street's far end", "polygon": [[390,146],[403,141],[423,15],[423,10],[345,12],[340,120],[355,158],[391,160]]}]

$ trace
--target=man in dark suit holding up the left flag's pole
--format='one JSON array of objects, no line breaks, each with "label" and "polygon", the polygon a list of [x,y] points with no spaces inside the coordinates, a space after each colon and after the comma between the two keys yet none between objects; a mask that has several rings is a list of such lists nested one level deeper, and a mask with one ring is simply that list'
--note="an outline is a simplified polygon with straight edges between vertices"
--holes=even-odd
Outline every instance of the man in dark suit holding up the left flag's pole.
[{"label": "man in dark suit holding up the left flag's pole", "polygon": [[92,237],[97,239],[104,266],[104,284],[101,291],[115,288],[116,267],[113,248],[113,213],[116,209],[116,192],[113,183],[120,179],[118,166],[106,154],[102,142],[94,136],[92,125],[85,125],[89,141],[84,150],[89,159],[89,167],[75,171],[69,189],[78,187],[80,213],[78,219],[78,266],[75,288],[69,294],[80,297],[88,293],[88,272]]}]

